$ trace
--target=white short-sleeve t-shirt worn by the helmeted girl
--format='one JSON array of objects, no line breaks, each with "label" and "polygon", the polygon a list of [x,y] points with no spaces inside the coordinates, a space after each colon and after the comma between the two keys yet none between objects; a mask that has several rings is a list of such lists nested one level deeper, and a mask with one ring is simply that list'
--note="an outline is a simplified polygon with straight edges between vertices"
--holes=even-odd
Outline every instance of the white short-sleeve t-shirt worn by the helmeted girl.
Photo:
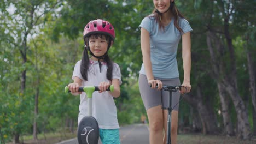
[{"label": "white short-sleeve t-shirt worn by the helmeted girl", "polygon": [[[100,82],[109,80],[106,77],[107,65],[102,62],[101,73],[98,65],[98,61],[90,60],[89,70],[88,70],[88,81],[85,81],[80,73],[81,61],[75,64],[72,79],[77,76],[82,80],[82,86],[98,86]],[[113,63],[112,79],[118,79],[121,85],[121,72],[119,65]],[[88,116],[87,112],[87,97],[86,93],[82,92],[80,94],[80,104],[79,104],[79,115],[78,123],[85,116]],[[92,116],[97,119],[100,129],[118,129],[118,119],[117,119],[117,107],[114,103],[114,97],[110,95],[108,91],[98,93],[97,91],[92,94]]]}]

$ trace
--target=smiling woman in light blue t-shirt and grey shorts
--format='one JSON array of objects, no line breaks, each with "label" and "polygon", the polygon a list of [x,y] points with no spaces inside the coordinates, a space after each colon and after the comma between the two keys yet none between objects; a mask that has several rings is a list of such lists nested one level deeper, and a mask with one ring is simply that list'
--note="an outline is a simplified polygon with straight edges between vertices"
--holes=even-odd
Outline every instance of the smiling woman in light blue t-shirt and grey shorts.
[{"label": "smiling woman in light blue t-shirt and grey shorts", "polygon": [[[139,89],[149,119],[149,141],[166,143],[167,133],[168,92],[157,91],[162,85],[180,85],[176,60],[178,43],[182,37],[182,58],[184,80],[181,93],[189,92],[191,48],[190,32],[192,28],[175,6],[174,0],[153,0],[153,13],[145,17],[141,28],[141,50],[143,64],[139,74]],[[152,88],[149,87],[152,85]],[[156,90],[156,85],[158,89]],[[179,101],[179,92],[172,94],[172,106]],[[178,107],[172,107],[171,113],[171,143],[177,142]],[[164,140],[162,139],[164,137]]]}]

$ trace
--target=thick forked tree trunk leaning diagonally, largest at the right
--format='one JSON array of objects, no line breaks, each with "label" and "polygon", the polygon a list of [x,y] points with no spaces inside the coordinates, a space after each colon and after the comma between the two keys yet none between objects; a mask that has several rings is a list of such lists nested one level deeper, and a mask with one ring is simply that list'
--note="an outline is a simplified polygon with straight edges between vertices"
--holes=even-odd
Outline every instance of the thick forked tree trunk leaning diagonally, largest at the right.
[{"label": "thick forked tree trunk leaning diagonally, largest at the right", "polygon": [[[234,49],[232,48],[232,44],[230,44],[232,41],[228,31],[225,31],[225,36],[229,47],[230,59],[226,59],[226,57],[224,58],[225,53],[222,51],[224,49],[222,40],[220,40],[216,33],[211,30],[208,30],[207,32],[207,45],[213,62],[214,73],[218,77],[217,80],[218,82],[223,83],[223,86],[235,105],[238,123],[238,137],[241,139],[250,139],[251,132],[249,130],[248,113],[237,90],[236,59],[234,56]],[[214,51],[214,47],[217,51]],[[230,63],[226,63],[227,61],[230,61]],[[226,69],[227,65],[230,65],[230,69],[228,70]]]}]

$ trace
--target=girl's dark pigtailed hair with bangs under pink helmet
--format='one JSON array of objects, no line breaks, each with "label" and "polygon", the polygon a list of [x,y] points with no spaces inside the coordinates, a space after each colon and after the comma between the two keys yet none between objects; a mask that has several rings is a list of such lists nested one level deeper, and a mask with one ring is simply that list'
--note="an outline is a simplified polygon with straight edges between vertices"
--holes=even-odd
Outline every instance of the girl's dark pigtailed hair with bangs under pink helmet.
[{"label": "girl's dark pigtailed hair with bangs under pink helmet", "polygon": [[[89,59],[89,56],[88,56],[88,50],[90,50],[90,48],[89,48],[89,39],[90,38],[96,38],[97,39],[99,37],[100,38],[105,38],[107,40],[108,50],[111,46],[111,41],[113,41],[112,38],[109,35],[106,35],[106,34],[92,34],[89,37],[84,37],[85,47],[84,47],[83,57],[82,57],[82,61],[81,61],[80,72],[81,72],[81,75],[82,75],[82,77],[85,81],[88,80],[88,70],[89,70],[89,64],[90,64],[90,59]],[[108,50],[107,50],[107,52],[108,52]],[[107,74],[106,74],[107,79],[112,80],[113,62],[110,60],[107,52],[102,57],[102,59],[103,59],[104,62],[107,63]]]}]

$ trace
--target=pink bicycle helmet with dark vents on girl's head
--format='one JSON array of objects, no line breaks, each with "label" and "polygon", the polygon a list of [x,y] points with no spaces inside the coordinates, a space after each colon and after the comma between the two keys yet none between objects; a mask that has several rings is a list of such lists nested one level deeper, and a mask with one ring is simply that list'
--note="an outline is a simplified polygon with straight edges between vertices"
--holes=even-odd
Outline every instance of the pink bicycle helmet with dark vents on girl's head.
[{"label": "pink bicycle helmet with dark vents on girl's head", "polygon": [[107,34],[113,40],[115,39],[115,30],[110,22],[101,19],[92,20],[84,27],[84,37],[88,37],[91,34]]}]

